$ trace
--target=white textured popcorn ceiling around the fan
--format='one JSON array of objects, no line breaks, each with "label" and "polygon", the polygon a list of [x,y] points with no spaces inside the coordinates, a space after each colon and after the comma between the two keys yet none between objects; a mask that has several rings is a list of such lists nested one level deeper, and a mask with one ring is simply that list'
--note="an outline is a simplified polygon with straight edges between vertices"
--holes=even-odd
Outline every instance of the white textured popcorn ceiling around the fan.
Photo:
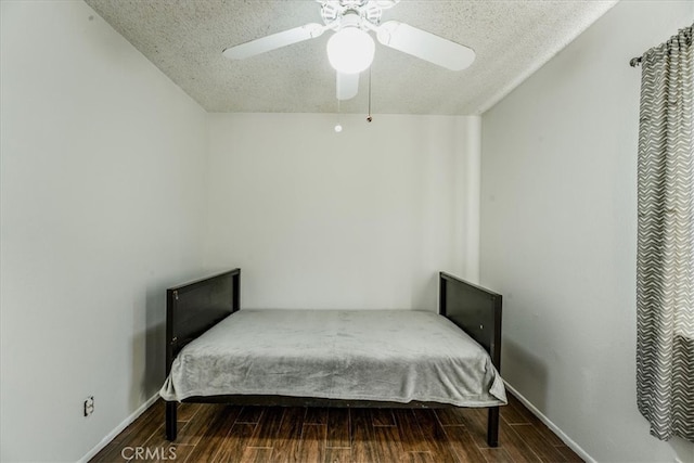
[{"label": "white textured popcorn ceiling around the fan", "polygon": [[[590,24],[609,1],[402,0],[398,20],[475,50],[471,67],[451,72],[376,43],[371,67],[375,114],[480,114]],[[86,0],[154,65],[209,112],[335,113],[331,33],[244,61],[223,49],[307,23],[321,23],[313,0]],[[369,72],[343,113],[365,113]]]}]

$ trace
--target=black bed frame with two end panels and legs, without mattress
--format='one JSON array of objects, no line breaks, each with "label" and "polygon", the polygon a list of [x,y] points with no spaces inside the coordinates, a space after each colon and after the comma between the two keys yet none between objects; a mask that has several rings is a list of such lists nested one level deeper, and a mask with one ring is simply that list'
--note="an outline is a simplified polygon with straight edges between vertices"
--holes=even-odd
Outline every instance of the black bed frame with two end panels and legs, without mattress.
[{"label": "black bed frame with two end panels and legs, without mattress", "polygon": [[[166,291],[166,375],[178,352],[191,340],[241,309],[241,269],[197,280]],[[501,372],[502,297],[448,273],[439,273],[438,312],[489,352]],[[183,402],[233,403],[239,406],[352,407],[352,408],[455,408],[437,402],[409,403],[387,401],[337,400],[287,396],[191,397]],[[166,438],[176,440],[177,401],[166,402]],[[499,445],[499,407],[489,407],[487,443]]]}]

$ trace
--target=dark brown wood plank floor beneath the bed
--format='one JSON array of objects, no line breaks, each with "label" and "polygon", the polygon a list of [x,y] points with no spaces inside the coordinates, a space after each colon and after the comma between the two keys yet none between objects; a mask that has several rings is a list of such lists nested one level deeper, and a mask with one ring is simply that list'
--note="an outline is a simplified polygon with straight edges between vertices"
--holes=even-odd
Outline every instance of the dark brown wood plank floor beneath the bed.
[{"label": "dark brown wood plank floor beneath the bed", "polygon": [[304,409],[179,406],[164,437],[157,401],[91,462],[580,462],[517,399],[501,408],[500,443],[484,409]]}]

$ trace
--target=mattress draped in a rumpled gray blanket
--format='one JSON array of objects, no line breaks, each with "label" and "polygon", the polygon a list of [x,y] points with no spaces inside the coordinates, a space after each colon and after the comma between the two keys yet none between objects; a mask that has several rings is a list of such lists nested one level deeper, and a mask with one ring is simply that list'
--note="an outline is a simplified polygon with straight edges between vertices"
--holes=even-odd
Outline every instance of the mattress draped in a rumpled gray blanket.
[{"label": "mattress draped in a rumpled gray blanket", "polygon": [[241,310],[181,350],[159,395],[506,403],[477,343],[412,310]]}]

